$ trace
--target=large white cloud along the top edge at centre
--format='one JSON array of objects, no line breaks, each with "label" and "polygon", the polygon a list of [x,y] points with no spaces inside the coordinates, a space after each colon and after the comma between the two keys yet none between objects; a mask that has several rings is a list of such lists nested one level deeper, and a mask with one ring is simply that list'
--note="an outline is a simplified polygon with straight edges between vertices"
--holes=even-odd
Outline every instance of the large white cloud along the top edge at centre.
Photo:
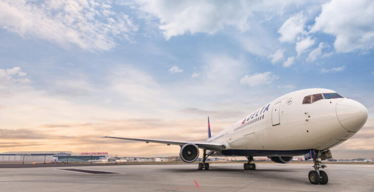
[{"label": "large white cloud along the top edge at centre", "polygon": [[[252,28],[251,17],[259,12],[282,14],[293,2],[256,1],[135,1],[133,6],[150,20],[159,20],[158,28],[165,39],[185,33],[214,34],[225,26],[234,26],[241,32]],[[255,13],[256,12],[256,13]],[[219,14],[218,14],[219,13]],[[257,19],[257,18],[256,18]]]}]

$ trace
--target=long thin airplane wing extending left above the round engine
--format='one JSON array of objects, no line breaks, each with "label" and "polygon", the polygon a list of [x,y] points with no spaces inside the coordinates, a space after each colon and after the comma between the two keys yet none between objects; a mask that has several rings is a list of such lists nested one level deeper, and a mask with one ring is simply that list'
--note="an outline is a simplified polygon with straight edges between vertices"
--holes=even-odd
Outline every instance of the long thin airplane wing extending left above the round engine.
[{"label": "long thin airplane wing extending left above the round engine", "polygon": [[223,143],[205,143],[205,142],[186,142],[186,141],[168,141],[168,140],[155,140],[155,139],[139,139],[139,138],[128,138],[128,137],[103,137],[103,138],[112,138],[112,139],[123,139],[123,140],[132,140],[132,141],[144,141],[146,143],[162,143],[167,145],[179,145],[183,146],[187,143],[194,143],[199,148],[211,150],[215,152],[221,152],[226,148],[226,145]]}]

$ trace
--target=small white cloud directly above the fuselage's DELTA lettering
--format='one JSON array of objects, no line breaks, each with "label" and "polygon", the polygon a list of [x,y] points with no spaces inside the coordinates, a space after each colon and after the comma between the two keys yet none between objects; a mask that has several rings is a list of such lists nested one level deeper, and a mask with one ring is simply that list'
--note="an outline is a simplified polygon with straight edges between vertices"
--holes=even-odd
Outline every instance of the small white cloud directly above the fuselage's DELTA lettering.
[{"label": "small white cloud directly above the fuselage's DELTA lettering", "polygon": [[240,83],[248,84],[249,86],[259,86],[261,84],[270,84],[273,80],[278,79],[276,75],[272,75],[272,72],[255,73],[253,75],[245,75],[240,79]]}]

